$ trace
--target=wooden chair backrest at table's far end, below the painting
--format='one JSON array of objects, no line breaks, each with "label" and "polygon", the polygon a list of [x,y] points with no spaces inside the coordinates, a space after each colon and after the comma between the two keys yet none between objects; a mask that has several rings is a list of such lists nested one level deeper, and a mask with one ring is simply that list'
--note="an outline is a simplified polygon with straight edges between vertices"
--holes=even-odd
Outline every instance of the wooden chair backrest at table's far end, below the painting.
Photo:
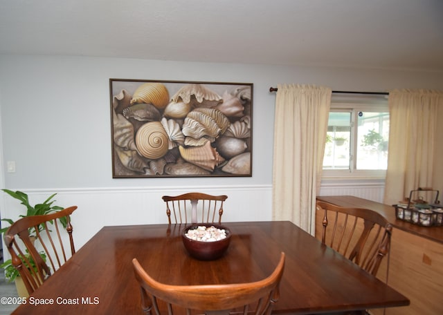
[{"label": "wooden chair backrest at table's far end, below the painting", "polygon": [[166,202],[169,224],[172,223],[171,213],[174,215],[174,223],[215,223],[217,216],[217,222],[221,224],[223,203],[227,198],[227,195],[206,193],[183,193],[183,195],[163,195],[162,197]]}]

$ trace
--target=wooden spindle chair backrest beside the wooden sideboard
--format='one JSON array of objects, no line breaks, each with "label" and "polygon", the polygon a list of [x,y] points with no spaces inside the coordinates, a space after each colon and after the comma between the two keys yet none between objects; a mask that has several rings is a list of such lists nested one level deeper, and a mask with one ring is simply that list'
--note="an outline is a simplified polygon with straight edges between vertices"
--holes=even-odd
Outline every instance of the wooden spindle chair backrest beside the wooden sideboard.
[{"label": "wooden spindle chair backrest beside the wooden sideboard", "polygon": [[323,213],[323,244],[332,247],[373,276],[389,254],[392,226],[380,213],[369,209],[343,208],[318,201]]}]

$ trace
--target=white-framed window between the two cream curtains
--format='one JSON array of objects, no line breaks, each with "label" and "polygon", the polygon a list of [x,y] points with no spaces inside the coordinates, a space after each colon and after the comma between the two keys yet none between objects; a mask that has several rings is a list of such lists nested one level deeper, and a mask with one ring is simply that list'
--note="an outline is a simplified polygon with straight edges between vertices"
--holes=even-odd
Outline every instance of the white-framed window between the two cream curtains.
[{"label": "white-framed window between the two cream curtains", "polygon": [[384,176],[388,137],[389,111],[385,95],[333,95],[323,175]]}]

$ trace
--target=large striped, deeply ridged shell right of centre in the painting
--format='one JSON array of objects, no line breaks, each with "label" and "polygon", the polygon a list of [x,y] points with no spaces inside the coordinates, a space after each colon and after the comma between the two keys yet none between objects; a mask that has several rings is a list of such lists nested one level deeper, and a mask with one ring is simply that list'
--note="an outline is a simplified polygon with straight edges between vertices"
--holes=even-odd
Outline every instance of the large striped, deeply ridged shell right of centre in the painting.
[{"label": "large striped, deeply ridged shell right of centre in the painting", "polygon": [[183,135],[199,139],[208,137],[211,142],[224,133],[230,122],[228,118],[215,108],[196,108],[191,111],[183,122]]}]

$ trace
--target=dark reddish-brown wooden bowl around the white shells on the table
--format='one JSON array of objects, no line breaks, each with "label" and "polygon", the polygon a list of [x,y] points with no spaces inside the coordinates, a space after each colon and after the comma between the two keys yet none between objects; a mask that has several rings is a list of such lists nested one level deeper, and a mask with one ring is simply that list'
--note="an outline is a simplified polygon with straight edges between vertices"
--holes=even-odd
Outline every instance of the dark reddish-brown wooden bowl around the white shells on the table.
[{"label": "dark reddish-brown wooden bowl around the white shells on the table", "polygon": [[[226,231],[226,238],[215,241],[201,241],[188,238],[186,233],[188,233],[190,229],[197,229],[197,227],[215,227],[216,229],[224,229]],[[206,223],[191,225],[190,227],[183,229],[181,233],[181,239],[183,240],[183,245],[185,245],[186,250],[190,256],[199,260],[215,260],[223,256],[226,249],[229,247],[230,236],[230,229],[227,227]]]}]

